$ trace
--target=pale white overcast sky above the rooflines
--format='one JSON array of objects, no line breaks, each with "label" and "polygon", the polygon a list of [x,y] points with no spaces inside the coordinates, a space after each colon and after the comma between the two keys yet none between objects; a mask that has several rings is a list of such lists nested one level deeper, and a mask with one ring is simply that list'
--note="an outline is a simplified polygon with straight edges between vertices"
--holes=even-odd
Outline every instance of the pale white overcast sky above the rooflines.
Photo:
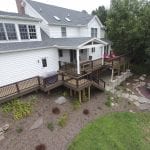
[{"label": "pale white overcast sky above the rooflines", "polygon": [[[110,6],[110,0],[34,0],[64,8],[74,9],[78,11],[86,10],[91,13],[98,6],[104,5],[106,8]],[[17,12],[15,0],[0,0],[0,10],[8,12]]]}]

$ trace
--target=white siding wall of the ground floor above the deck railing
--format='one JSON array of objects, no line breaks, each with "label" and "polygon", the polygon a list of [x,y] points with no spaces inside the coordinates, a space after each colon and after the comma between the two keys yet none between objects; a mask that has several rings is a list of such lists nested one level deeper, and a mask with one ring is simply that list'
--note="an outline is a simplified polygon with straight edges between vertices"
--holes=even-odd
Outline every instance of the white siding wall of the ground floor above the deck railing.
[{"label": "white siding wall of the ground floor above the deck railing", "polygon": [[[42,59],[46,58],[47,67]],[[0,54],[0,86],[34,76],[58,71],[58,51],[55,48]]]}]

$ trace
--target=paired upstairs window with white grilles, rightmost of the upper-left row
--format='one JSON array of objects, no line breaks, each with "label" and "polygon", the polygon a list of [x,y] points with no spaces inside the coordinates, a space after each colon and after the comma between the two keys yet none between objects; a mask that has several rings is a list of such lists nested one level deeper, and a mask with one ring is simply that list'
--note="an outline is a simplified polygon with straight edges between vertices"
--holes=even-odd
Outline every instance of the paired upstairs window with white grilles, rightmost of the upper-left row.
[{"label": "paired upstairs window with white grilles, rightmost of the upper-left row", "polygon": [[22,40],[37,39],[35,25],[19,24],[19,31]]}]

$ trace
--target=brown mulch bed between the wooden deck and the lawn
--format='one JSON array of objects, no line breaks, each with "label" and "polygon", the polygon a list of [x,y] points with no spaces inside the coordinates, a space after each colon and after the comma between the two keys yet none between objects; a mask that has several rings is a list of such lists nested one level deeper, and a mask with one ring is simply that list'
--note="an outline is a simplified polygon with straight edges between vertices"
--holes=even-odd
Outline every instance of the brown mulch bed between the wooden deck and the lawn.
[{"label": "brown mulch bed between the wooden deck and the lawn", "polygon": [[[28,100],[30,96],[28,95],[22,100]],[[80,108],[74,110],[71,100],[68,100],[63,105],[58,105],[54,102],[58,98],[58,94],[48,96],[47,94],[38,93],[34,111],[29,117],[14,121],[11,116],[0,112],[0,125],[10,124],[10,129],[6,132],[5,139],[0,141],[0,150],[35,150],[35,147],[40,144],[44,144],[47,150],[66,150],[67,145],[79,133],[81,128],[95,118],[114,111],[139,111],[124,99],[119,100],[118,106],[107,107],[105,105],[106,95],[99,91],[92,92],[91,97],[90,101],[82,103]],[[60,114],[53,114],[52,109],[55,107],[60,109]],[[88,115],[83,114],[85,109],[89,110]],[[64,113],[68,114],[68,120],[67,125],[61,128],[58,126],[58,119]],[[30,131],[30,127],[39,117],[43,117],[43,125]],[[53,131],[47,128],[48,122],[53,123]],[[23,129],[21,133],[16,132],[18,127]]]}]

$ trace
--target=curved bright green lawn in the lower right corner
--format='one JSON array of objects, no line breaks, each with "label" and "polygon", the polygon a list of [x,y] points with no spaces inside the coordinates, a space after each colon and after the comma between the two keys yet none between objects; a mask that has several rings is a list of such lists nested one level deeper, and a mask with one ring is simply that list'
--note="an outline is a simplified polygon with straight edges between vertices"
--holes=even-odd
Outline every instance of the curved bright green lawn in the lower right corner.
[{"label": "curved bright green lawn in the lower right corner", "polygon": [[150,113],[112,113],[88,124],[68,150],[150,150]]}]

